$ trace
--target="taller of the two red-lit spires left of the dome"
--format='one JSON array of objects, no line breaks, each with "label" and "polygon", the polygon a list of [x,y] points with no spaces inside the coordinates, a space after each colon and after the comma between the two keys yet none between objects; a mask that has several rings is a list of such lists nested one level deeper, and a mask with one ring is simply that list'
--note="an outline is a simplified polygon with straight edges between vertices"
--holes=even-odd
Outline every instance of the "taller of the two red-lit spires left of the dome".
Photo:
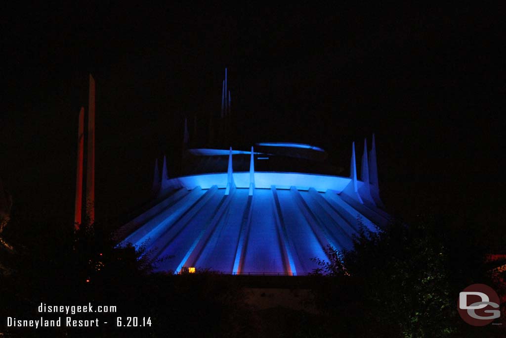
[{"label": "taller of the two red-lit spires left of the dome", "polygon": [[86,215],[90,224],[95,221],[95,79],[90,74],[88,103],[88,156],[86,167]]}]

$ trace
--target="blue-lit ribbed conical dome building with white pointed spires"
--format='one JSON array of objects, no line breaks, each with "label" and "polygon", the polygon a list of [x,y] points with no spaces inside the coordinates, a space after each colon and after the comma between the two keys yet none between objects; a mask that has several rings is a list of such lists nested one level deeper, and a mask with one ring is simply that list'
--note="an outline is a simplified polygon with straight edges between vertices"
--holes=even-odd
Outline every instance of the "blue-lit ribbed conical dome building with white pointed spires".
[{"label": "blue-lit ribbed conical dome building with white pointed spires", "polygon": [[[230,92],[222,84],[216,131],[230,128]],[[210,124],[210,123],[209,123]],[[209,137],[210,137],[209,136]],[[185,121],[184,144],[189,133]],[[153,199],[116,233],[120,245],[144,246],[170,273],[209,269],[226,274],[305,275],[327,260],[325,248],[351,249],[365,227],[389,215],[379,199],[374,135],[363,145],[357,175],[336,176],[324,149],[301,143],[255,143],[184,151],[185,175],[169,178],[155,162]]]}]

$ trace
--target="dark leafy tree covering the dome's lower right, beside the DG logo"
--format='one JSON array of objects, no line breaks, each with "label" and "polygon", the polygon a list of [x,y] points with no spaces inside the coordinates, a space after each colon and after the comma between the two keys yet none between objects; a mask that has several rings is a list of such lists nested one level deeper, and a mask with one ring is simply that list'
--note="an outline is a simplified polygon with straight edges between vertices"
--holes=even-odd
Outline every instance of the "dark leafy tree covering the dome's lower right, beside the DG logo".
[{"label": "dark leafy tree covering the dome's lower right, beside the DG logo", "polygon": [[[315,302],[339,332],[446,337],[469,330],[456,311],[458,292],[468,281],[454,278],[458,271],[468,271],[469,261],[452,252],[455,243],[466,246],[464,236],[448,239],[443,218],[434,215],[409,225],[392,221],[377,232],[360,229],[353,250],[327,247],[328,260],[315,259]],[[483,282],[482,248],[468,251],[481,262],[474,269]],[[496,328],[480,334],[485,330],[498,334]]]}]

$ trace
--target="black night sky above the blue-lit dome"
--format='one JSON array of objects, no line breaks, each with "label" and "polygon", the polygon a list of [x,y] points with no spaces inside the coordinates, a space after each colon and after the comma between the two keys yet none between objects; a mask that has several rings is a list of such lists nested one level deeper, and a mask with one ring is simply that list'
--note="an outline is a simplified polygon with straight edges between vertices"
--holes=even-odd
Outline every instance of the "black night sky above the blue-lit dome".
[{"label": "black night sky above the blue-lit dome", "polygon": [[[72,223],[77,116],[97,87],[96,208],[142,203],[155,157],[176,173],[185,116],[219,112],[229,68],[243,142],[324,147],[348,171],[376,133],[387,209],[502,221],[503,30],[489,8],[279,5],[7,10],[0,177],[18,217]],[[501,114],[499,114],[501,112]],[[172,169],[171,169],[172,168]]]}]

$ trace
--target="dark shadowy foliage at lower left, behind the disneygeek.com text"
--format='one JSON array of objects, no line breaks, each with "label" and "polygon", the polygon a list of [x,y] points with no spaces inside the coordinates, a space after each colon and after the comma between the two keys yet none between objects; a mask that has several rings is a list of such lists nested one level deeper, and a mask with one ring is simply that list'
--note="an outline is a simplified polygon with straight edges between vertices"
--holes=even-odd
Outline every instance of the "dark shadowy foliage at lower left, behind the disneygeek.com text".
[{"label": "dark shadowy foliage at lower left, behind the disneygeek.com text", "polygon": [[[0,252],[11,270],[0,276],[0,318],[48,319],[40,303],[48,305],[116,306],[117,313],[94,314],[115,323],[117,316],[150,317],[152,326],[101,328],[0,329],[8,336],[237,336],[254,332],[254,320],[244,303],[242,287],[227,276],[211,272],[174,276],[156,273],[149,252],[128,245],[116,247],[107,227],[71,227],[58,223],[17,224],[10,233],[17,248]],[[170,259],[170,258],[168,258]],[[156,264],[156,262],[154,262]],[[65,317],[65,315],[63,315]],[[87,319],[86,314],[75,319]]]}]

